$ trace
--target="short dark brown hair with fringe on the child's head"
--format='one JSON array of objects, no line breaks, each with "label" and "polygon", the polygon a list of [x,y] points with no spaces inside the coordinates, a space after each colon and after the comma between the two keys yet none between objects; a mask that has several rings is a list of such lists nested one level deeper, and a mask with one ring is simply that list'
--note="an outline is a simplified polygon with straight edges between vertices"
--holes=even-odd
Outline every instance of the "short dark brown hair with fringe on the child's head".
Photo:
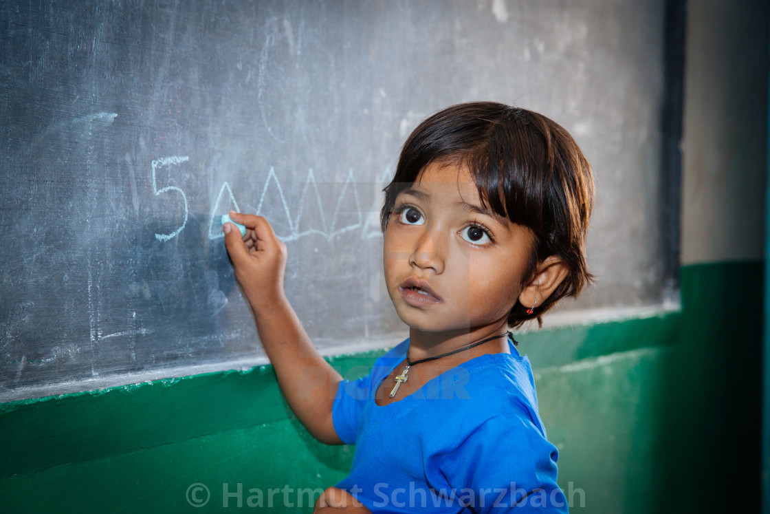
[{"label": "short dark brown hair with fringe on the child's head", "polygon": [[551,255],[567,265],[567,277],[534,314],[514,305],[510,327],[534,318],[542,324],[541,314],[594,280],[585,260],[594,204],[591,165],[561,125],[497,102],[461,103],[430,116],[403,143],[396,175],[384,189],[383,232],[398,193],[434,162],[467,166],[484,207],[532,230],[535,243],[523,284]]}]

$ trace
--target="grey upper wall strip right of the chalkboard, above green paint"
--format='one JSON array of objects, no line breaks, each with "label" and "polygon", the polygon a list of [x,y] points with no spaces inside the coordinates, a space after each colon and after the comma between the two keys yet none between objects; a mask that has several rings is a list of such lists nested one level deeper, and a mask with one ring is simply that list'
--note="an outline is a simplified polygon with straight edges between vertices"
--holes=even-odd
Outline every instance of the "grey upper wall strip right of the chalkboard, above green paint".
[{"label": "grey upper wall strip right of the chalkboard, above green paint", "polygon": [[762,0],[689,2],[682,264],[762,258],[767,9]]}]

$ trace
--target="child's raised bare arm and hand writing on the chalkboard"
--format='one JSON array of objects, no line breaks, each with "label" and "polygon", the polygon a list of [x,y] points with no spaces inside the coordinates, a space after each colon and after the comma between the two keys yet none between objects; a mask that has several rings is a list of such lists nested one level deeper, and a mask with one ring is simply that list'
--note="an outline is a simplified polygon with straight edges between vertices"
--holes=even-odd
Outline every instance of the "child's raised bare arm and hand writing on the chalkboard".
[{"label": "child's raised bare arm and hand writing on the chalkboard", "polygon": [[286,245],[263,217],[233,212],[230,217],[246,226],[246,236],[241,238],[239,230],[226,223],[225,244],[278,385],[313,437],[330,445],[342,444],[332,422],[334,395],[342,377],[313,347],[286,299]]}]

